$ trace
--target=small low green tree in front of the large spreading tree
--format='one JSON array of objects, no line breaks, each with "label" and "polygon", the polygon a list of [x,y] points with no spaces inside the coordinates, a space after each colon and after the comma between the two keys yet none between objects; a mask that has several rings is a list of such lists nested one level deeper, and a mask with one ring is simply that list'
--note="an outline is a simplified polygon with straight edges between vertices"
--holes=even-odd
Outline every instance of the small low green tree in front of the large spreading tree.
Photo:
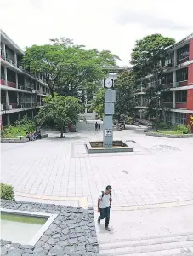
[{"label": "small low green tree in front of the large spreading tree", "polygon": [[57,94],[54,94],[54,97],[47,96],[43,101],[45,107],[41,108],[37,114],[37,122],[43,124],[45,121],[53,119],[54,123],[60,127],[60,137],[63,137],[65,125],[77,122],[82,105],[75,97],[58,96]]}]

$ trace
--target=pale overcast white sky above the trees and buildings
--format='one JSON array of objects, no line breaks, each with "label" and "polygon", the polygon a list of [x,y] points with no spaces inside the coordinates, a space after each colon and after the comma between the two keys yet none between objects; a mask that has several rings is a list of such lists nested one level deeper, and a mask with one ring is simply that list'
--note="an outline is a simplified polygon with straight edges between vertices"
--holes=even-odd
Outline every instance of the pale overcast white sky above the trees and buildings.
[{"label": "pale overcast white sky above the trees and buildings", "polygon": [[179,41],[193,32],[192,0],[0,0],[0,9],[1,29],[22,49],[63,36],[111,50],[120,65],[148,34]]}]

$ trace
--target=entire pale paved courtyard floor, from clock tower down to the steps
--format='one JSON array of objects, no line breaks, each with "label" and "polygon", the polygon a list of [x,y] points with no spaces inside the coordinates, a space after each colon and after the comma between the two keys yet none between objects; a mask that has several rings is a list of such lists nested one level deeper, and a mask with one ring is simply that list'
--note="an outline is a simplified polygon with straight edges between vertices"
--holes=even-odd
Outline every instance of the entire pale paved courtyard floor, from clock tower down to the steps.
[{"label": "entire pale paved courtyard floor, from clock tower down to the steps", "polygon": [[63,139],[59,135],[49,131],[48,139],[2,144],[1,179],[14,186],[17,199],[96,209],[99,192],[111,184],[112,231],[107,235],[97,227],[99,241],[193,234],[193,138],[147,137],[128,126],[114,138],[128,141],[132,153],[88,154],[84,143],[102,139],[94,122],[80,123],[77,133]]}]

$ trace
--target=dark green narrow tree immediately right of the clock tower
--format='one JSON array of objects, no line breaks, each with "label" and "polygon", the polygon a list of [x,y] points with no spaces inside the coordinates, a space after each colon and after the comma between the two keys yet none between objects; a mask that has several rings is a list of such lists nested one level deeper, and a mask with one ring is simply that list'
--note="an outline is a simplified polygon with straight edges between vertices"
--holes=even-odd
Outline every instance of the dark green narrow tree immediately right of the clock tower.
[{"label": "dark green narrow tree immediately right of the clock tower", "polygon": [[115,118],[121,121],[122,116],[133,116],[135,112],[135,88],[133,74],[130,71],[120,73],[115,84],[115,90]]}]

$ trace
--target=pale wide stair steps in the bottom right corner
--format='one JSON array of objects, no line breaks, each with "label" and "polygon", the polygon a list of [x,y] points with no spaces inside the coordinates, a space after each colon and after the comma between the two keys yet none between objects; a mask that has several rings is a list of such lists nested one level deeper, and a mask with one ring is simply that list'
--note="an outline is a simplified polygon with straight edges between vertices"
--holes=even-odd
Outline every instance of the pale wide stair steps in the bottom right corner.
[{"label": "pale wide stair steps in the bottom right corner", "polygon": [[[107,255],[111,255],[111,256],[129,255],[129,254],[135,255],[136,253],[138,253],[141,256],[147,255],[147,253],[148,253],[148,256],[150,255],[150,253],[153,253],[152,255],[160,256],[161,254],[159,253],[161,252],[163,252],[163,255],[167,255],[167,254],[164,254],[164,251],[168,252],[171,250],[178,250],[178,253],[180,253],[180,249],[188,248],[188,247],[193,247],[193,234],[180,235],[180,236],[155,237],[150,239],[141,239],[137,241],[126,240],[126,241],[111,241],[107,243],[99,242],[99,253],[100,255],[106,255],[106,256]],[[157,254],[156,252],[159,252],[159,253]],[[193,256],[193,253],[192,253],[192,256]]]}]

